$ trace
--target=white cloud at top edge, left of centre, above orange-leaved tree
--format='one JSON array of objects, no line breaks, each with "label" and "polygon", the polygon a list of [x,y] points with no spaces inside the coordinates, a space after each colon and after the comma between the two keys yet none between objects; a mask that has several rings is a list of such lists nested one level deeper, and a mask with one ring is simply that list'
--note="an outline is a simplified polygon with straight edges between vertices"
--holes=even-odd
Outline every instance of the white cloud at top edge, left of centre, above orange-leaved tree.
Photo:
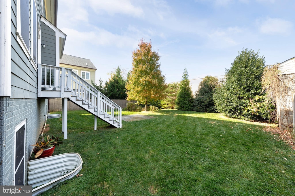
[{"label": "white cloud at top edge, left of centre, above orange-leaved tree", "polygon": [[141,17],[143,10],[139,6],[131,4],[130,0],[89,0],[92,9],[99,12],[106,12],[109,15],[126,14]]}]

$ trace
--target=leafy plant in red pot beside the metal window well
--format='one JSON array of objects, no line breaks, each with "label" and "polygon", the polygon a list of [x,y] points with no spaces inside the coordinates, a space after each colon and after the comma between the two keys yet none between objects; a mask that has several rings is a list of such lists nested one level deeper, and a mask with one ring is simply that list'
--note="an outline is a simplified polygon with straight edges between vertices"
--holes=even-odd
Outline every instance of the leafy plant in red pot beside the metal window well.
[{"label": "leafy plant in red pot beside the metal window well", "polygon": [[38,140],[36,144],[31,146],[35,146],[35,158],[43,158],[51,156],[54,152],[55,146],[59,146],[62,143],[63,138],[55,137],[54,135],[50,137],[50,135],[47,135],[43,137],[42,140]]}]

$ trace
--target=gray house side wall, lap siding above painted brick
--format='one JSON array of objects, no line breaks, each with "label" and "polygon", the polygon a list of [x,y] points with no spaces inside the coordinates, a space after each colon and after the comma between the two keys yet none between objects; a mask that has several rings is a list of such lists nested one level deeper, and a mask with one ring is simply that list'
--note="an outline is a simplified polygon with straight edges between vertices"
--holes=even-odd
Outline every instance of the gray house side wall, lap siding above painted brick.
[{"label": "gray house side wall, lap siding above painted brick", "polygon": [[[37,10],[40,9],[40,2],[37,1]],[[24,120],[26,185],[27,160],[33,149],[30,145],[36,143],[42,131],[48,104],[47,99],[37,98],[37,71],[17,41],[16,10],[16,1],[11,0],[11,24],[7,24],[11,25],[11,96],[0,97],[0,185],[14,184],[14,129]],[[39,14],[37,18],[40,21]]]}]

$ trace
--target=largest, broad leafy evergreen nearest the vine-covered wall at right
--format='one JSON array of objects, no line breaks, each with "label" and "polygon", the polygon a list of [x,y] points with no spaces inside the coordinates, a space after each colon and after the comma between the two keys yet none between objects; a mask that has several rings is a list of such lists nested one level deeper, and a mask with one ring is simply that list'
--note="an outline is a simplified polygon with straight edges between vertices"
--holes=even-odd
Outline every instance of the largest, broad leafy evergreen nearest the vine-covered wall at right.
[{"label": "largest, broad leafy evergreen nearest the vine-covered wall at right", "polygon": [[246,110],[250,100],[260,95],[261,76],[265,61],[259,51],[243,49],[238,53],[230,69],[225,72],[224,85],[217,88],[213,95],[217,111],[232,118],[253,118]]}]

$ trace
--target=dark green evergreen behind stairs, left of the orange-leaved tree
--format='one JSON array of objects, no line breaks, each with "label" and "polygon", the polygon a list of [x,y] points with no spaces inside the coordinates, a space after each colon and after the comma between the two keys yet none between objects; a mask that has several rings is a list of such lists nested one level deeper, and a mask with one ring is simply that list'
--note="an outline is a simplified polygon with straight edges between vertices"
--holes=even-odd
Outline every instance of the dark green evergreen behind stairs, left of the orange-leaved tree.
[{"label": "dark green evergreen behind stairs, left of the orange-leaved tree", "polygon": [[104,84],[105,95],[110,99],[126,99],[126,81],[122,76],[120,67],[118,66],[114,72],[111,73],[109,81]]}]

